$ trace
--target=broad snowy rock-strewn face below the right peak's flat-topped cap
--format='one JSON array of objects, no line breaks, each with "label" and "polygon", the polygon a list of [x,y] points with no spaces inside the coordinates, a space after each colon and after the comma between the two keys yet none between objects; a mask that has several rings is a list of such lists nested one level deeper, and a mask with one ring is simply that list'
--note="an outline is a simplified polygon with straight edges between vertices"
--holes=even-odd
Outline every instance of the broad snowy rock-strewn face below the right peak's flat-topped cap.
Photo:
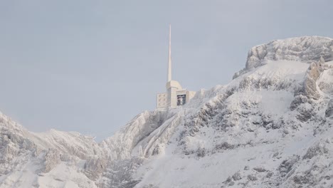
[{"label": "broad snowy rock-strewn face below the right peak's flat-topped cap", "polygon": [[330,97],[295,96],[308,87],[308,67],[266,62],[221,87],[139,169],[137,187],[331,186]]}]

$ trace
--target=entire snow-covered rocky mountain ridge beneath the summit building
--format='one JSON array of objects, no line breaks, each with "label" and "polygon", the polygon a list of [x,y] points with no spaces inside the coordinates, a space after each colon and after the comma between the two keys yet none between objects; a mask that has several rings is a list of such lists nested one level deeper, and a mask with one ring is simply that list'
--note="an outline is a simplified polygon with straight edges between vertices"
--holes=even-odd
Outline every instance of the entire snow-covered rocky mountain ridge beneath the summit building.
[{"label": "entire snow-covered rocky mountain ridge beneath the summit building", "polygon": [[333,39],[255,46],[228,85],[96,143],[0,115],[0,188],[332,187]]}]

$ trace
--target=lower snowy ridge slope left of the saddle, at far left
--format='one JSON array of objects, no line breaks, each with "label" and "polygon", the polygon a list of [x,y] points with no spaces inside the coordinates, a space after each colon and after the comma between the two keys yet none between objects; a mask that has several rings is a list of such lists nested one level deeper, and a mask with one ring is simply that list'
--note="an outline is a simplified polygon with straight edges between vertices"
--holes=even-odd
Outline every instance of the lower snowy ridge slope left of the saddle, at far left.
[{"label": "lower snowy ridge slope left of the saddle, at far left", "polygon": [[96,187],[78,171],[102,155],[92,138],[56,130],[28,132],[5,115],[0,115],[0,135],[0,187]]}]

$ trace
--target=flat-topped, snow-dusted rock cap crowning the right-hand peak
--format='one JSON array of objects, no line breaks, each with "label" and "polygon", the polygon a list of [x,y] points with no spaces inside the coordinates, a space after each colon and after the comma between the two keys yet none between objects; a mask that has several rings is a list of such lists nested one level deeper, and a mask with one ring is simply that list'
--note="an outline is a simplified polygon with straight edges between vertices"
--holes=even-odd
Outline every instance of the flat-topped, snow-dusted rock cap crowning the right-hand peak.
[{"label": "flat-topped, snow-dusted rock cap crowning the right-hand peak", "polygon": [[233,75],[237,78],[248,71],[263,66],[267,61],[300,61],[312,63],[319,61],[333,61],[333,40],[321,36],[302,36],[275,40],[267,44],[255,46],[248,52],[245,68]]}]

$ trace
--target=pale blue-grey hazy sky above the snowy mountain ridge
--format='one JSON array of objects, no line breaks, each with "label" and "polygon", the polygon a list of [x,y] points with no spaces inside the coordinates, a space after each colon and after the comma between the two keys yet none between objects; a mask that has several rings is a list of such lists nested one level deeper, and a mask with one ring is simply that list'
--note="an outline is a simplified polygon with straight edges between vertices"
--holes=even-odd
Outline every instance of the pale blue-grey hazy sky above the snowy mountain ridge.
[{"label": "pale blue-grey hazy sky above the snowy mountain ridge", "polygon": [[0,0],[0,110],[35,132],[108,136],[165,91],[169,23],[173,78],[199,90],[228,83],[252,46],[333,38],[332,10],[332,0]]}]

